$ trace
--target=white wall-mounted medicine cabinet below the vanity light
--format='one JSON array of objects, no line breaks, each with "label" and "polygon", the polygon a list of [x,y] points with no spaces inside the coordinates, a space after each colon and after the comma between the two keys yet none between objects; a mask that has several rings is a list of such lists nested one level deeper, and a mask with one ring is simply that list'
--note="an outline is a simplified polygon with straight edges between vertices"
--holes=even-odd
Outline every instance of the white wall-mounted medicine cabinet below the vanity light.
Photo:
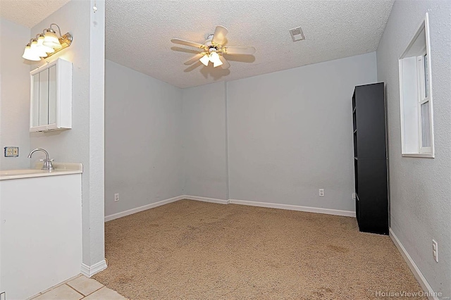
[{"label": "white wall-mounted medicine cabinet below the vanity light", "polygon": [[72,63],[58,58],[30,72],[30,132],[72,128]]}]

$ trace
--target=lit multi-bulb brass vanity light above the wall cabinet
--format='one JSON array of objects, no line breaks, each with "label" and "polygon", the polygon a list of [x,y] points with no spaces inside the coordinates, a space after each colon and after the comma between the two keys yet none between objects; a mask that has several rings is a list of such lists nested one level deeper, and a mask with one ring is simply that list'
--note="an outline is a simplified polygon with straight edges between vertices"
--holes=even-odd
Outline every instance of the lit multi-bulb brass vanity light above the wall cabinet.
[{"label": "lit multi-bulb brass vanity light above the wall cabinet", "polygon": [[[59,37],[52,27],[53,25],[58,27]],[[49,28],[42,30],[42,34],[30,39],[30,42],[25,46],[22,57],[28,61],[40,61],[41,58],[52,56],[67,48],[70,44],[72,44],[72,35],[69,32],[66,35],[61,35],[59,26],[52,23]]]}]

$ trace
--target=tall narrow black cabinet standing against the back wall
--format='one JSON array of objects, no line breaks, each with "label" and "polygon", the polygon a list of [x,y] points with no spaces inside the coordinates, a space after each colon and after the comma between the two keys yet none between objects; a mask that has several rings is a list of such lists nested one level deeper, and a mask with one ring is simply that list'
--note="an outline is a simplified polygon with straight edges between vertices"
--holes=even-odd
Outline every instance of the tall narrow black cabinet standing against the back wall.
[{"label": "tall narrow black cabinet standing against the back wall", "polygon": [[359,230],[388,235],[387,139],[383,82],[352,96],[355,206]]}]

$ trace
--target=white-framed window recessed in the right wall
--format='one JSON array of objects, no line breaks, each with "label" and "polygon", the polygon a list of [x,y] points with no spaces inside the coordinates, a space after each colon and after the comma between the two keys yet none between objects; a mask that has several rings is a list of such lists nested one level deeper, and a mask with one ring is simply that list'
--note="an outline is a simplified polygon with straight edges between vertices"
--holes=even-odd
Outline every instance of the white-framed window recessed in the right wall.
[{"label": "white-framed window recessed in the right wall", "polygon": [[402,156],[434,157],[428,14],[400,57]]}]

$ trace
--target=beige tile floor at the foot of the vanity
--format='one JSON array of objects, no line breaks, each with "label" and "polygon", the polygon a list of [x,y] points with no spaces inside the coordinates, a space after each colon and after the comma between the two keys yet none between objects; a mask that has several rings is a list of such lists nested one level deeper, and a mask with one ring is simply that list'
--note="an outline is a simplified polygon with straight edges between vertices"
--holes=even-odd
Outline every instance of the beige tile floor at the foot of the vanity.
[{"label": "beige tile floor at the foot of the vanity", "polygon": [[[32,300],[126,300],[127,298],[105,287],[92,278],[78,275],[67,282],[37,294]],[[30,299],[30,300],[31,300]]]}]

